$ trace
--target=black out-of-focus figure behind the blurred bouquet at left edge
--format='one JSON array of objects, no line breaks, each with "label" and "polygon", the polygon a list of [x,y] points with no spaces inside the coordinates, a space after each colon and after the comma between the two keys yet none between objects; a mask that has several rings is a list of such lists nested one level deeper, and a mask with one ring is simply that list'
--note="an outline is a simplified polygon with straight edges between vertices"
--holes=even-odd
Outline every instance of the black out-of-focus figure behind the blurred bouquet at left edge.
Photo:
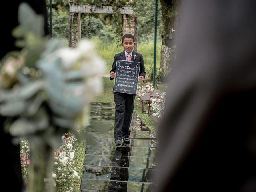
[{"label": "black out-of-focus figure behind the blurred bouquet at left edge", "polygon": [[[0,58],[6,55],[9,51],[20,50],[14,46],[15,38],[12,36],[12,30],[18,26],[18,6],[21,2],[27,2],[37,14],[43,14],[45,18],[45,34],[48,34],[47,24],[47,10],[45,0],[15,0],[1,2],[2,9],[6,11],[1,12],[2,18],[2,48],[0,51]],[[5,42],[5,43],[3,43]],[[20,146],[12,143],[12,136],[4,132],[3,125],[5,117],[0,116],[0,135],[2,146],[2,188],[20,192],[24,190],[21,174],[20,164]]]}]

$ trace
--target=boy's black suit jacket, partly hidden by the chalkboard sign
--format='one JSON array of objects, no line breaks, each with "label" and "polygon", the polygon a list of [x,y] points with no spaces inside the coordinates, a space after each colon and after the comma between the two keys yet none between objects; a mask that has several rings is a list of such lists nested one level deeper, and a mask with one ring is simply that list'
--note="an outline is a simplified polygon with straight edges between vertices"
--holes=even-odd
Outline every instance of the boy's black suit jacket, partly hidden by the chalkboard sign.
[{"label": "boy's black suit jacket, partly hidden by the chalkboard sign", "polygon": [[[134,58],[134,55],[137,55],[137,57]],[[114,56],[114,62],[113,62],[112,69],[110,70],[110,72],[116,72],[116,60],[126,60],[124,51],[121,53],[118,53]],[[131,61],[140,62],[139,76],[144,76],[144,79],[145,79],[146,71],[145,71],[144,60],[143,60],[142,54],[133,51]],[[113,80],[113,79],[110,78],[110,80]]]}]

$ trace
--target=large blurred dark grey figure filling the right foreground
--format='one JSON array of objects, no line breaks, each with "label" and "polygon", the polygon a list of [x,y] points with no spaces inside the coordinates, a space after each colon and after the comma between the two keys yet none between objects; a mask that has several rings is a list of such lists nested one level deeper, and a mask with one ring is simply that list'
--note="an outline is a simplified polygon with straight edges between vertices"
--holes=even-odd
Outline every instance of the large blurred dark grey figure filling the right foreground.
[{"label": "large blurred dark grey figure filling the right foreground", "polygon": [[158,192],[256,192],[256,1],[185,0]]}]

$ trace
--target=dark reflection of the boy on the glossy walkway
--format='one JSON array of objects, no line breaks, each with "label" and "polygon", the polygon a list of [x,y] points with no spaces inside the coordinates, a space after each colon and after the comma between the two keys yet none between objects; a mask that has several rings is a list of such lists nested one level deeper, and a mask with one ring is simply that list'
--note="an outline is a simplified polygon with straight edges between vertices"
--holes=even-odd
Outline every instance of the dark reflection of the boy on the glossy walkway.
[{"label": "dark reflection of the boy on the glossy walkway", "polygon": [[108,192],[127,192],[127,181],[129,180],[129,151],[129,144],[123,143],[121,147],[116,147],[112,158]]}]

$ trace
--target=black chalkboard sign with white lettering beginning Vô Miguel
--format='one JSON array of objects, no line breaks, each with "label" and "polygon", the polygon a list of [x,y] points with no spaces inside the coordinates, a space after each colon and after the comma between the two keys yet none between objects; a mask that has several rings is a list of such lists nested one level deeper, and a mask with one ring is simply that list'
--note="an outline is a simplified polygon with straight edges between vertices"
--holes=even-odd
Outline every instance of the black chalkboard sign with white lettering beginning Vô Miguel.
[{"label": "black chalkboard sign with white lettering beginning V\u00f4 Miguel", "polygon": [[139,72],[140,62],[117,60],[114,92],[136,94]]}]

